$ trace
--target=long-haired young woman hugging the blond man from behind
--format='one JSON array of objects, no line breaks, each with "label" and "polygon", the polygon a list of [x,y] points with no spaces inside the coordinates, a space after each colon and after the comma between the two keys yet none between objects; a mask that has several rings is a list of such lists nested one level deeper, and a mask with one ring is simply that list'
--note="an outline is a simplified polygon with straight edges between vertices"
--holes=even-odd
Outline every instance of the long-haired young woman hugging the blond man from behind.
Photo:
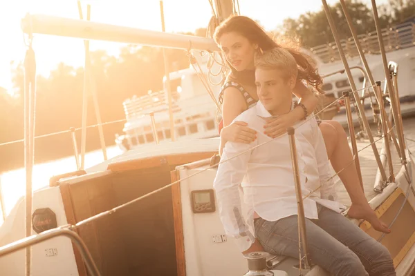
[{"label": "long-haired young woman hugging the blond man from behind", "polygon": [[[282,46],[279,46],[255,21],[243,16],[234,16],[223,21],[216,28],[214,39],[231,69],[219,96],[223,118],[223,128],[220,129],[221,152],[227,141],[250,143],[256,139],[255,130],[242,122],[232,124],[232,121],[258,101],[255,87],[255,53]],[[317,98],[303,83],[312,86],[318,93],[323,93],[320,90],[322,79],[312,59],[293,46],[284,48],[297,61],[298,80],[293,94],[300,100],[291,112],[268,121],[264,126],[264,133],[270,137],[282,135],[286,128],[307,117],[317,106]],[[340,172],[344,168],[339,177],[351,197],[349,217],[366,219],[376,230],[390,233],[367,203],[356,166],[348,166],[353,161],[353,155],[342,126],[337,121],[322,121],[320,130],[333,169]]]}]

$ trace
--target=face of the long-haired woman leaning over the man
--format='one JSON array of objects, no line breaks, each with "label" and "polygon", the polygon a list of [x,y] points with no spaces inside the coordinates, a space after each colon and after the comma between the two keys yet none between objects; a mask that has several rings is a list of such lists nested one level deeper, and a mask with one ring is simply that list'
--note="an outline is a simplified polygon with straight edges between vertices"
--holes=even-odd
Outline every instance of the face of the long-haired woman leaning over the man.
[{"label": "face of the long-haired woman leaning over the man", "polygon": [[219,39],[219,47],[228,62],[238,71],[254,68],[257,46],[237,32],[225,32]]}]

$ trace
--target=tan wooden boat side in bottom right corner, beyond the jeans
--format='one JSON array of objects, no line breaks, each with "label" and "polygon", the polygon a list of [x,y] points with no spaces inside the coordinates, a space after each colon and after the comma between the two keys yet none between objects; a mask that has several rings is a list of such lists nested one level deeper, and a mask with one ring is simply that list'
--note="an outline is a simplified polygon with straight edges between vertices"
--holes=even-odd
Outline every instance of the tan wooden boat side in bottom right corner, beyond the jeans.
[{"label": "tan wooden boat side in bottom right corner, beyond the jeans", "polygon": [[[405,204],[404,204],[405,202]],[[404,204],[404,205],[403,205]],[[381,243],[386,246],[394,259],[394,266],[398,266],[407,251],[415,244],[415,210],[405,201],[403,190],[397,188],[385,202],[376,209],[376,215],[387,225],[391,224],[396,214],[403,205],[403,209],[391,227],[391,233],[385,235]],[[382,233],[374,230],[371,225],[364,221],[360,228],[365,230],[374,239],[379,239]]]}]

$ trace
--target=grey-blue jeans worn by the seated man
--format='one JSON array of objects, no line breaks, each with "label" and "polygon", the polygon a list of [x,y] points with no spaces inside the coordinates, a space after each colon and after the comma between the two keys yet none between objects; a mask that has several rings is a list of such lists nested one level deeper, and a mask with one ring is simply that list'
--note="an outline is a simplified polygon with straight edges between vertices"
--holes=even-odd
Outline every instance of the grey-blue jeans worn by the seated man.
[{"label": "grey-blue jeans worn by the seated man", "polygon": [[[319,219],[306,219],[308,255],[312,264],[336,276],[396,275],[385,246],[343,215],[317,206]],[[278,221],[255,219],[255,235],[267,252],[298,259],[297,215]]]}]

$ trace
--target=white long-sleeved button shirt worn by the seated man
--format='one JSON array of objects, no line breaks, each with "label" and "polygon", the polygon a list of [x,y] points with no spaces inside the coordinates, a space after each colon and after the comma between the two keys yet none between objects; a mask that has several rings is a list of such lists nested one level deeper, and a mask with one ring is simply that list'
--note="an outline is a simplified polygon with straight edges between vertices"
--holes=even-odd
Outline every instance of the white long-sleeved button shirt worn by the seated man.
[{"label": "white long-sleeved button shirt worn by the seated man", "polygon": [[[297,215],[288,135],[270,141],[271,138],[264,134],[266,117],[272,116],[259,101],[256,106],[234,119],[245,121],[248,127],[257,130],[257,139],[250,144],[228,141],[223,149],[222,161],[246,150],[248,152],[220,164],[214,179],[219,215],[225,233],[236,239],[241,251],[248,250],[255,242],[255,235],[250,230],[253,229],[254,212],[267,221]],[[337,195],[334,181],[329,179],[329,160],[317,121],[300,121],[294,128],[303,198],[323,184],[322,188],[304,199],[305,216],[308,219],[318,219],[317,202],[340,213],[344,206],[334,201]],[[270,142],[249,150],[266,141]],[[243,202],[239,196],[240,188],[243,189]],[[245,205],[244,208],[242,205]],[[243,210],[248,213],[246,216],[243,215]]]}]

